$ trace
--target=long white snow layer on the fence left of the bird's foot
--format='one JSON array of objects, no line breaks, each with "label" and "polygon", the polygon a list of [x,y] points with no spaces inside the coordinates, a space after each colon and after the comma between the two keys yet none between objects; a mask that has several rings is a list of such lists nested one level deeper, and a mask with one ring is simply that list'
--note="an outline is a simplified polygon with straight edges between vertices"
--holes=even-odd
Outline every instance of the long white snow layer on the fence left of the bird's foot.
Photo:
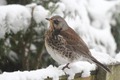
[{"label": "long white snow layer on the fence left of the bird's foot", "polygon": [[0,75],[0,80],[44,80],[47,77],[53,77],[53,80],[59,80],[59,76],[61,75],[64,75],[62,70],[50,65],[45,69],[43,68],[33,71],[16,71],[13,73],[4,72]]}]

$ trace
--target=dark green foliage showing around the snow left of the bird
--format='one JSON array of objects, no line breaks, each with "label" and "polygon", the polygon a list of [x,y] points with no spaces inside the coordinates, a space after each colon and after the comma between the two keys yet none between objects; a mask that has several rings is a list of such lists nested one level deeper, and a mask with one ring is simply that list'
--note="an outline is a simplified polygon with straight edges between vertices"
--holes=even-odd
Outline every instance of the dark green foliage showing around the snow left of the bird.
[{"label": "dark green foliage showing around the snow left of the bird", "polygon": [[[8,4],[26,5],[33,1],[19,0],[16,2],[16,0],[7,0],[7,2]],[[42,0],[38,4],[48,9],[49,2],[51,1]],[[55,3],[57,0],[53,0],[53,2]],[[53,8],[50,7],[49,9],[53,12]],[[32,70],[47,67],[50,64],[56,65],[44,47],[46,29],[47,23],[45,21],[36,24],[32,18],[31,25],[26,31],[21,30],[16,34],[6,33],[5,37],[0,39],[0,70]]]}]

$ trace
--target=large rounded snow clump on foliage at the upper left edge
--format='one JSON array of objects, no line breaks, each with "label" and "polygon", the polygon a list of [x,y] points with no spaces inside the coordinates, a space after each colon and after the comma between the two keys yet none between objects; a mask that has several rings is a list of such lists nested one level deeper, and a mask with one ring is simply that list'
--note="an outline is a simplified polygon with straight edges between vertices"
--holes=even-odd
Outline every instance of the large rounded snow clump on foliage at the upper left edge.
[{"label": "large rounded snow clump on foliage at the upper left edge", "polygon": [[31,23],[31,13],[22,5],[0,6],[0,15],[0,38],[5,33],[26,30]]}]

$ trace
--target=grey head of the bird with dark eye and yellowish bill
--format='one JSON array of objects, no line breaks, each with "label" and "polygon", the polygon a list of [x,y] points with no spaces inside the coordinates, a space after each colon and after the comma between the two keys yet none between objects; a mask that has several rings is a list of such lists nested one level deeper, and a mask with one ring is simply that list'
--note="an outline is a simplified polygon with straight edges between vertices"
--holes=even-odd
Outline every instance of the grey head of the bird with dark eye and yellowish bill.
[{"label": "grey head of the bird with dark eye and yellowish bill", "polygon": [[68,29],[68,24],[66,21],[60,16],[53,16],[51,18],[46,18],[50,22],[51,30],[66,30]]}]

